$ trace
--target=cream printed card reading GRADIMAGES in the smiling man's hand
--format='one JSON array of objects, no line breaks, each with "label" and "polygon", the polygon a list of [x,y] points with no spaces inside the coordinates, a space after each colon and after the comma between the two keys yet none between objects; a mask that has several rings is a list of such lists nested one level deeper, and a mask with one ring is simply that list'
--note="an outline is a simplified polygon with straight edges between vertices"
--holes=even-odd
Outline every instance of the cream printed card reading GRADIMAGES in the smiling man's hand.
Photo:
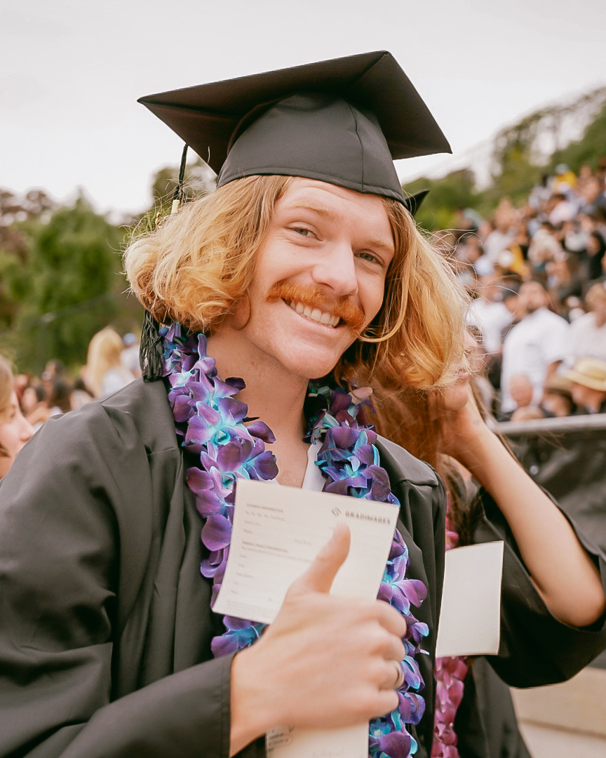
[{"label": "cream printed card reading GRADIMAGES in the smiling man's hand", "polygon": [[[286,590],[345,522],[351,547],[331,594],[374,600],[392,545],[398,506],[239,479],[225,577],[214,612],[270,624]],[[342,729],[279,726],[270,758],[367,758],[368,724]]]}]

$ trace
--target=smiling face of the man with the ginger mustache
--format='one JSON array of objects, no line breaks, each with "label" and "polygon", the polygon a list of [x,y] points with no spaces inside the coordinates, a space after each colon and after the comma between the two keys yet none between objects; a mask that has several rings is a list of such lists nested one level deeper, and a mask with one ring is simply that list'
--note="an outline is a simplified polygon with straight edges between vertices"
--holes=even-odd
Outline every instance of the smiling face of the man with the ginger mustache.
[{"label": "smiling face of the man with the ginger mustache", "polygon": [[380,198],[297,177],[258,253],[250,310],[224,323],[258,364],[322,377],[379,312],[393,255]]}]

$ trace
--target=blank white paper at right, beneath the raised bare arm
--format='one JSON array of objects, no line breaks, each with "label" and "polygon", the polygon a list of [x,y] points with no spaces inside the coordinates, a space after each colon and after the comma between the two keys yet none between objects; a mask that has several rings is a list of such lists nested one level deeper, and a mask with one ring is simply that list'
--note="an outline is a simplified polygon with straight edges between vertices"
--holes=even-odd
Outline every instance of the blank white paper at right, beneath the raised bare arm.
[{"label": "blank white paper at right, beneath the raised bare arm", "polygon": [[503,550],[501,540],[446,551],[436,656],[498,653]]}]

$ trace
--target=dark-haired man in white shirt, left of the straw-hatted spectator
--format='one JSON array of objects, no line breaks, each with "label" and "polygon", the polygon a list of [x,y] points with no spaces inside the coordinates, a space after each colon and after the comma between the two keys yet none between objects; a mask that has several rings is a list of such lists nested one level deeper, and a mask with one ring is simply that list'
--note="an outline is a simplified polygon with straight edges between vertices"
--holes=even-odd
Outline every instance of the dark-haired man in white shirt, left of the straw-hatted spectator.
[{"label": "dark-haired man in white shirt, left of the straw-hatted spectator", "polygon": [[520,303],[526,316],[516,324],[503,343],[501,368],[501,412],[516,407],[509,392],[511,377],[526,374],[533,384],[533,403],[538,405],[545,380],[551,377],[567,356],[569,324],[548,309],[549,295],[536,280],[520,287]]}]

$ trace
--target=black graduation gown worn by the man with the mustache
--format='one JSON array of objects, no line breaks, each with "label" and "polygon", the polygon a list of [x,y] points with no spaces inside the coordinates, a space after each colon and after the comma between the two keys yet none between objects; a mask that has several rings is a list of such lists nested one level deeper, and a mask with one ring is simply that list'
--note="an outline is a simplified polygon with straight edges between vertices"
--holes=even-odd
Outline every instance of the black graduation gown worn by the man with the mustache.
[{"label": "black graduation gown worn by the man with the mustache", "polygon": [[[385,441],[409,576],[429,594],[418,656],[433,732],[433,651],[445,494],[429,466]],[[201,519],[164,384],[135,381],[52,418],[0,486],[0,756],[227,756],[232,656],[202,578]],[[261,738],[240,753],[264,755]]]}]

